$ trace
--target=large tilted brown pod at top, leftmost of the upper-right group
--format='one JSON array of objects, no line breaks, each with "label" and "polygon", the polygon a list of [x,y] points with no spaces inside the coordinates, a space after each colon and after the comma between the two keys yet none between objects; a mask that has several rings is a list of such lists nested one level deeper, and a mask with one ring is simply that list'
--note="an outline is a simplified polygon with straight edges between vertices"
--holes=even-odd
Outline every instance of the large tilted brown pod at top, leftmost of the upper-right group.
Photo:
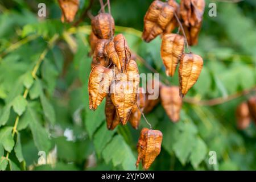
[{"label": "large tilted brown pod at top, leftmost of the upper-right group", "polygon": [[165,30],[167,24],[174,17],[174,7],[166,2],[153,1],[144,16],[142,39],[150,42]]}]

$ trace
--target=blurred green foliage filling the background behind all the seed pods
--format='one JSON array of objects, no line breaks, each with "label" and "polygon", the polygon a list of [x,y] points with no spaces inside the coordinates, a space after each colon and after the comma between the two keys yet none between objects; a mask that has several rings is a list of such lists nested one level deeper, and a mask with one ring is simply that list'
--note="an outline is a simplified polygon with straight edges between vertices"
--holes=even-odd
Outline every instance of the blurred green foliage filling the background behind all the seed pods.
[{"label": "blurred green foliage filling the background behind all the seed pods", "polygon": [[[38,18],[39,2],[46,3],[46,19]],[[116,33],[177,85],[177,73],[174,78],[164,74],[160,38],[151,43],[141,39],[151,1],[110,2]],[[204,68],[185,97],[180,122],[172,123],[161,105],[146,115],[163,133],[162,151],[150,169],[256,169],[255,125],[238,130],[234,114],[255,92],[228,101],[256,85],[256,2],[206,2],[199,44],[192,47],[203,57]],[[217,17],[208,16],[209,2],[217,3]],[[77,19],[88,5],[80,1]],[[95,0],[91,13],[98,10]],[[0,169],[133,170],[139,132],[148,126],[142,118],[139,130],[126,125],[108,131],[105,104],[89,110],[90,19],[72,27],[61,23],[60,15],[57,1],[0,2]],[[151,73],[137,63],[140,73]],[[214,104],[214,98],[221,103]],[[47,165],[38,165],[39,151],[46,152]],[[217,152],[217,165],[209,165],[209,151]]]}]

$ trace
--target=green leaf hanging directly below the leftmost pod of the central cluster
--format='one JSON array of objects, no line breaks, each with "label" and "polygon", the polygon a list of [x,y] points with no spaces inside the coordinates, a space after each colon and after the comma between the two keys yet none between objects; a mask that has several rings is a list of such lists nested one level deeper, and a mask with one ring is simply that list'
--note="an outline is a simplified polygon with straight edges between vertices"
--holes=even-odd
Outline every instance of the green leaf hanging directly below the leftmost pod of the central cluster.
[{"label": "green leaf hanging directly below the leftmost pod of the central cluster", "polygon": [[94,132],[104,121],[105,119],[104,110],[105,110],[105,100],[101,102],[100,106],[98,106],[98,108],[95,111],[88,110],[85,112],[85,127],[90,138],[92,138],[92,135],[94,134]]}]

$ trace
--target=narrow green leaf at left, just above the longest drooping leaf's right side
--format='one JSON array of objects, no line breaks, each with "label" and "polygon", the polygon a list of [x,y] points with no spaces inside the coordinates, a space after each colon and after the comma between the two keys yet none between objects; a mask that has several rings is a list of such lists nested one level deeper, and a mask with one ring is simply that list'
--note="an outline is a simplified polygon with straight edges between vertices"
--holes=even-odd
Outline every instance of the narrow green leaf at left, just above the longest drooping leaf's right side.
[{"label": "narrow green leaf at left, just above the longest drooping leaf's right side", "polygon": [[43,107],[44,115],[46,116],[48,121],[51,122],[52,125],[54,125],[56,121],[56,115],[53,106],[47,100],[46,96],[44,96],[43,93],[40,94],[40,100]]}]

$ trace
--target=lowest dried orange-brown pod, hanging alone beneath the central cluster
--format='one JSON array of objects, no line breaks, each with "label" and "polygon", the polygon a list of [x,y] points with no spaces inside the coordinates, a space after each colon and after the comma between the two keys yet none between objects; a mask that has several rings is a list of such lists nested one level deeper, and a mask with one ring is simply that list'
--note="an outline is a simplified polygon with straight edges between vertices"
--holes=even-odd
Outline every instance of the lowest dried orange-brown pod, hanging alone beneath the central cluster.
[{"label": "lowest dried orange-brown pod, hanging alone beneath the central cluster", "polygon": [[160,154],[163,134],[159,130],[142,129],[137,144],[138,158],[136,166],[142,160],[144,169],[150,168],[156,156]]}]

